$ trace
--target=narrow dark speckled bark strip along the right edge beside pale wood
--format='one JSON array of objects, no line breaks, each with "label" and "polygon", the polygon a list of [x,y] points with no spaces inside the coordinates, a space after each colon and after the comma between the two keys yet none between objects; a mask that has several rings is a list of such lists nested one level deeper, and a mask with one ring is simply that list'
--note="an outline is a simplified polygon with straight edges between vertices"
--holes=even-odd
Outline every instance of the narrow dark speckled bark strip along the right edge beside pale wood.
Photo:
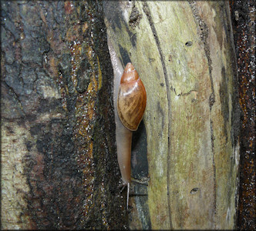
[{"label": "narrow dark speckled bark strip along the right edge beside pale wood", "polygon": [[255,2],[231,0],[230,5],[242,110],[237,229],[255,230]]}]

